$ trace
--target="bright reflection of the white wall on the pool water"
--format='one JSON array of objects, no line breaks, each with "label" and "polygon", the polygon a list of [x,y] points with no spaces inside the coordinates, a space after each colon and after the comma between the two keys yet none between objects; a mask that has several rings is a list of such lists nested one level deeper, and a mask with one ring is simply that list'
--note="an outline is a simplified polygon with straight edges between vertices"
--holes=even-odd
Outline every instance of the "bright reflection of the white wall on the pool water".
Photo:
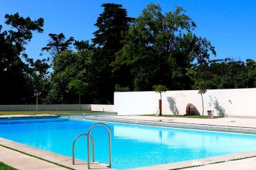
[{"label": "bright reflection of the white wall on the pool water", "polygon": [[[250,150],[251,145],[256,140],[255,135],[145,126],[114,126],[114,137],[137,140],[137,142],[162,144],[168,146],[170,149],[204,149],[211,152]],[[256,147],[252,147],[252,149],[256,149]]]}]

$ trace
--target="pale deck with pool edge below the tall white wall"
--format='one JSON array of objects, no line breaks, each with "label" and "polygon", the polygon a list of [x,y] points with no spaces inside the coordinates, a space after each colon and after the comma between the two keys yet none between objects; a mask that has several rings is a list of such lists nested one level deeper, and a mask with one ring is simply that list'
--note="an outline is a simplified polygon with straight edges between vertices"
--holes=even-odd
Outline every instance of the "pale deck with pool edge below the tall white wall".
[{"label": "pale deck with pool edge below the tall white wall", "polygon": [[132,123],[146,126],[163,126],[182,129],[199,129],[217,132],[236,132],[256,135],[256,119],[200,119],[200,118],[168,118],[154,116],[93,116],[87,120],[111,121],[116,123]]}]

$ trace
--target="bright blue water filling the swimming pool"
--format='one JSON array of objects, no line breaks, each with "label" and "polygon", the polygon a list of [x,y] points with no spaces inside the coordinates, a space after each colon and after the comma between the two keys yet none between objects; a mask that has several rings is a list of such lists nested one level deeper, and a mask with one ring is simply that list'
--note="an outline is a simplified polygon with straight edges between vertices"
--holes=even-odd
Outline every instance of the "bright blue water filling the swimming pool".
[{"label": "bright blue water filling the swimming pool", "polygon": [[[71,157],[74,138],[87,133],[94,123],[97,122],[62,118],[0,120],[0,137]],[[256,135],[106,124],[111,129],[114,169],[256,150]],[[96,126],[91,135],[96,145],[96,161],[108,164],[107,130],[103,126]],[[86,154],[86,138],[82,137],[76,143],[76,158],[86,160]]]}]

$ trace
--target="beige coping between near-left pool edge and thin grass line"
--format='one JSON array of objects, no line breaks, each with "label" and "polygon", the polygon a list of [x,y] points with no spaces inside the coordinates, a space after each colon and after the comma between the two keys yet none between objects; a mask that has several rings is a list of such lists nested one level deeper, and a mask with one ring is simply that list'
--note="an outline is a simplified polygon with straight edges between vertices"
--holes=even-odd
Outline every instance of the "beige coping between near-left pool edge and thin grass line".
[{"label": "beige coping between near-left pool edge and thin grass line", "polygon": [[[38,149],[33,146],[28,146],[23,143],[18,143],[13,140],[7,140],[0,137],[0,146],[7,149],[20,152],[21,154],[27,154],[31,157],[36,157],[40,160],[45,160],[48,163],[53,163],[67,169],[87,169],[87,162],[76,159],[76,165],[72,164],[72,157],[68,157],[62,154],[49,152],[43,149]],[[12,166],[12,165],[10,165]],[[110,169],[103,163],[91,163],[91,169]]]}]

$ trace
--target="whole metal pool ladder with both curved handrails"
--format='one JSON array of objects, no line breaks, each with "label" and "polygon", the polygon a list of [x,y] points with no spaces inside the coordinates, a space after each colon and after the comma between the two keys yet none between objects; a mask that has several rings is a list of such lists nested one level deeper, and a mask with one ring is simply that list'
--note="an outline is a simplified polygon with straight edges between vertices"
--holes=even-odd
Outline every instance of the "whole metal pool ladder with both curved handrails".
[{"label": "whole metal pool ladder with both curved handrails", "polygon": [[93,137],[91,137],[91,130],[95,127],[95,126],[104,126],[107,130],[108,130],[108,159],[109,159],[109,168],[111,168],[111,130],[109,129],[109,127],[105,124],[105,123],[95,123],[93,124],[93,126],[91,126],[91,128],[88,130],[88,134],[82,134],[82,135],[78,135],[75,140],[73,140],[73,165],[75,164],[75,144],[76,144],[76,140],[79,137],[82,136],[87,136],[87,164],[88,164],[88,169],[90,169],[90,140],[93,143],[93,162],[95,162],[95,143],[93,140]]}]

